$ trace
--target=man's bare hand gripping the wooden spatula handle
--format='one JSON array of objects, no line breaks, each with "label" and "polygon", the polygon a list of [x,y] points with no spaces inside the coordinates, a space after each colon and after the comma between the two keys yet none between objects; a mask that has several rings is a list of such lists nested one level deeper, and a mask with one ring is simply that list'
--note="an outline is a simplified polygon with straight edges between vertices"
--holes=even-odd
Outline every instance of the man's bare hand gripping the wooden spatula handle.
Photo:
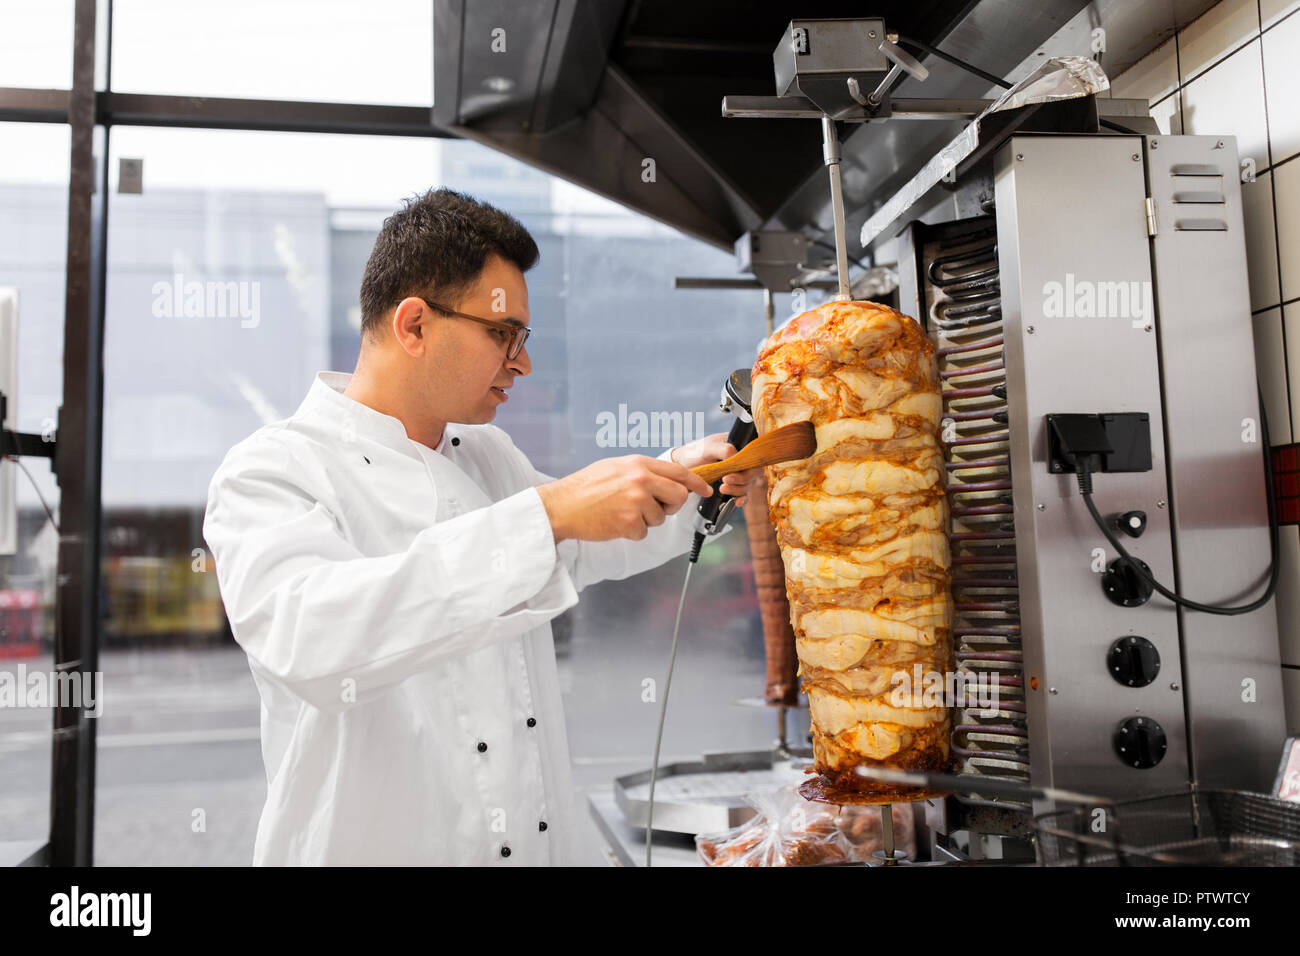
[{"label": "man's bare hand gripping the wooden spatula handle", "polygon": [[645,455],[606,458],[537,486],[556,542],[569,537],[640,541],[676,514],[692,492],[705,498],[714,493],[684,466]]}]

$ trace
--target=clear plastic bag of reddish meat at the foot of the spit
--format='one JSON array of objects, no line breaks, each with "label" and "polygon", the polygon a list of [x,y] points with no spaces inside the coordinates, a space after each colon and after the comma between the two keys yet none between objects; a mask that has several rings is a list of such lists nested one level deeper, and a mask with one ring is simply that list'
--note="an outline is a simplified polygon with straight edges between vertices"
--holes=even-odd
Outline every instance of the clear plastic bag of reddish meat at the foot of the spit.
[{"label": "clear plastic bag of reddish meat at the foot of the spit", "polygon": [[[706,866],[818,866],[867,862],[881,848],[879,806],[831,806],[797,787],[748,793],[758,814],[740,826],[696,836]],[[916,855],[911,806],[894,806],[894,847]]]}]

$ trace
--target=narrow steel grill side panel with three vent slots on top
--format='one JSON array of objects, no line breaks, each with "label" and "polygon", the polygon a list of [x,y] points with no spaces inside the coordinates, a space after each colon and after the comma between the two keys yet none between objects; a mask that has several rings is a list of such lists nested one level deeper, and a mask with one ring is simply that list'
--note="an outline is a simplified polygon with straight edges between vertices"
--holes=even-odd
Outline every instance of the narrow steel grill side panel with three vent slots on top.
[{"label": "narrow steel grill side panel with three vent slots on top", "polygon": [[[1270,536],[1236,140],[1152,137],[1143,153],[1156,207],[1150,247],[1176,591],[1240,605],[1268,580]],[[1197,174],[1176,174],[1184,169]],[[1188,216],[1226,230],[1180,230]],[[1253,434],[1243,431],[1249,423]],[[1108,485],[1098,479],[1098,501],[1113,501]],[[1236,617],[1182,609],[1178,617],[1193,779],[1268,791],[1286,739],[1274,601]]]}]

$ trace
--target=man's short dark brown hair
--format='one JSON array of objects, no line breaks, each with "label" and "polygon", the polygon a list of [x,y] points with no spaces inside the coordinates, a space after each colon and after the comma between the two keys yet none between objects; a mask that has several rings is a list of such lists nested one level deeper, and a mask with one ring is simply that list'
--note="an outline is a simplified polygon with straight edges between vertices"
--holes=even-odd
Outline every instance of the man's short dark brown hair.
[{"label": "man's short dark brown hair", "polygon": [[450,189],[407,199],[380,229],[361,276],[361,332],[377,333],[382,316],[410,295],[455,308],[490,254],[528,272],[537,243],[508,212]]}]

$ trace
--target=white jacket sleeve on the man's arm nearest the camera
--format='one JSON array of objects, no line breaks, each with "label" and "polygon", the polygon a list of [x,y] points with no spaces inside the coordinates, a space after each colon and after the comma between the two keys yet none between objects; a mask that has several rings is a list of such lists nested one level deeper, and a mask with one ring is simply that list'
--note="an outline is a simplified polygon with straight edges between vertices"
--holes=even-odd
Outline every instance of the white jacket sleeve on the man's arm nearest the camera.
[{"label": "white jacket sleeve on the man's arm nearest the camera", "polygon": [[533,488],[365,557],[299,475],[280,445],[237,446],[212,479],[203,535],[251,663],[322,710],[577,604]]}]

